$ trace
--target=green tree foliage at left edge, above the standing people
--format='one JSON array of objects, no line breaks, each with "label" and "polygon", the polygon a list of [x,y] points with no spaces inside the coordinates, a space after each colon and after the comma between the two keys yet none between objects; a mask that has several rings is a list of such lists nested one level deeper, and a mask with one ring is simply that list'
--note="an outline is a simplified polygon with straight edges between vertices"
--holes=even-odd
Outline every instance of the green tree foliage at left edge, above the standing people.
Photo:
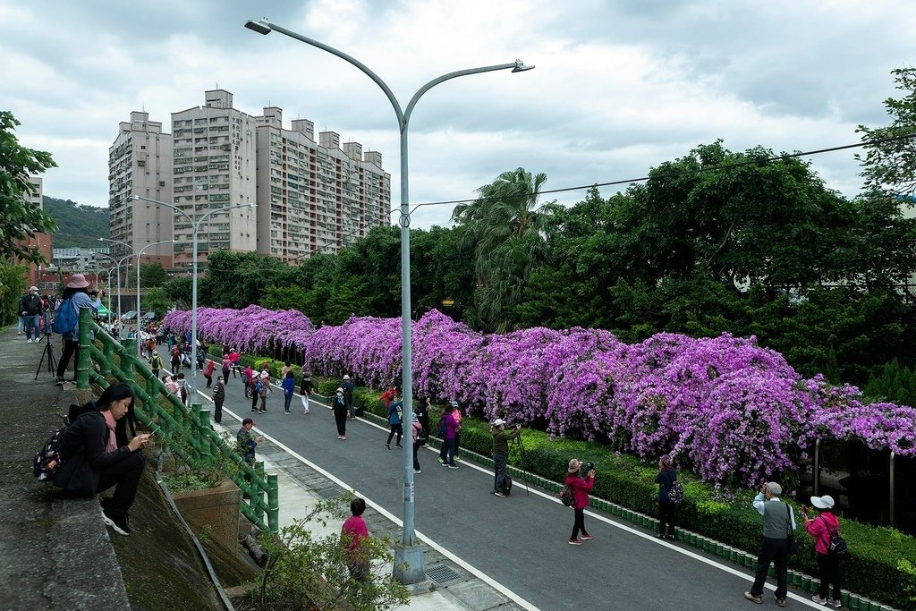
[{"label": "green tree foliage at left edge, above the standing people", "polygon": [[23,147],[13,133],[20,125],[9,111],[0,111],[0,258],[17,257],[31,263],[42,263],[38,246],[24,242],[37,233],[57,230],[48,213],[24,195],[35,192],[28,181],[57,164],[50,153]]}]

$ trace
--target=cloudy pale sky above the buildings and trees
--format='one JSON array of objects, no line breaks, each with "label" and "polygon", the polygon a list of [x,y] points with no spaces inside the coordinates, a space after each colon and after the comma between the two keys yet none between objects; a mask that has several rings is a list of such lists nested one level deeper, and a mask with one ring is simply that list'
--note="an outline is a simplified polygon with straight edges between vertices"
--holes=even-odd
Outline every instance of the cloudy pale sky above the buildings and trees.
[{"label": "cloudy pale sky above the buildings and trees", "polygon": [[[107,205],[118,123],[145,109],[170,131],[172,112],[219,86],[249,114],[278,105],[286,126],[311,119],[381,151],[397,205],[384,94],[329,53],[245,29],[264,16],[363,61],[403,105],[446,72],[537,66],[423,97],[410,125],[414,203],[473,198],[519,166],[546,173],[545,189],[638,178],[716,138],[778,153],[851,144],[856,125],[888,123],[890,71],[916,59],[908,0],[0,0],[0,108],[59,164],[45,194]],[[811,160],[855,195],[853,154]],[[422,207],[414,226],[447,224],[451,209]]]}]

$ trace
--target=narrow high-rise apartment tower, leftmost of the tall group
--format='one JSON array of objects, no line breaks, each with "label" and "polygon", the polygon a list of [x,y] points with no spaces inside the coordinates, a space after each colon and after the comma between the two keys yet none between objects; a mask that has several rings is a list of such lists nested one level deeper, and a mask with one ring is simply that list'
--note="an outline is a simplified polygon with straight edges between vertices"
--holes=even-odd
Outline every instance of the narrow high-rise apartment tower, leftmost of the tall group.
[{"label": "narrow high-rise apartment tower, leftmost of the tall group", "polygon": [[[114,144],[108,149],[109,228],[113,240],[131,245],[133,252],[172,237],[172,211],[149,202],[136,202],[132,195],[159,202],[172,201],[172,136],[148,113],[133,112],[123,121]],[[125,246],[113,245],[114,255],[129,254]],[[144,261],[172,267],[172,245],[147,248]]]}]

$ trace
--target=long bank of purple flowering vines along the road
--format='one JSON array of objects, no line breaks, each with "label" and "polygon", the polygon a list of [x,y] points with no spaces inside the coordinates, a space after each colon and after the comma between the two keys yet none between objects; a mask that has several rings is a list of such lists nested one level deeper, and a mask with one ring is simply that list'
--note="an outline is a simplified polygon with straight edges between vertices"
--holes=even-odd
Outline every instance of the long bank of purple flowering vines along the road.
[{"label": "long bank of purple flowering vines along the road", "polygon": [[[315,373],[398,384],[400,320],[352,318],[315,330],[298,311],[202,308],[199,333],[258,352],[295,344]],[[167,329],[191,316],[169,312]],[[803,379],[756,339],[659,333],[622,344],[600,330],[476,333],[439,311],[413,327],[414,392],[457,399],[471,413],[612,442],[645,460],[663,453],[704,481],[757,486],[796,468],[817,437],[856,438],[916,453],[916,409],[863,403],[856,387]]]}]

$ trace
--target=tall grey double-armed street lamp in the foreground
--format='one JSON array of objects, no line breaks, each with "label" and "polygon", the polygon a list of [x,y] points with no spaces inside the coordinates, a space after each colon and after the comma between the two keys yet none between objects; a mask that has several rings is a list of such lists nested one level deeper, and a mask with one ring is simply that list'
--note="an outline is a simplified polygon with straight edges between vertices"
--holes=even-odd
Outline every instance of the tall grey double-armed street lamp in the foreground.
[{"label": "tall grey double-armed street lamp in the foreground", "polygon": [[[411,371],[411,349],[410,349],[410,209],[409,209],[409,172],[408,172],[408,128],[410,123],[410,114],[414,106],[420,100],[420,97],[430,91],[433,87],[441,82],[449,81],[459,76],[470,74],[479,74],[481,72],[490,72],[497,70],[511,69],[513,72],[527,71],[534,66],[526,66],[522,60],[515,60],[512,63],[499,64],[496,66],[484,66],[481,68],[471,68],[468,70],[449,72],[426,83],[417,93],[413,94],[406,110],[401,110],[400,104],[395,94],[382,79],[373,71],[369,70],[361,61],[350,57],[343,51],[329,47],[318,40],[308,38],[293,32],[285,27],[280,27],[270,23],[267,19],[259,21],[247,21],[245,27],[257,32],[258,34],[269,34],[272,31],[279,32],[295,38],[307,45],[322,49],[336,55],[344,61],[353,64],[366,76],[373,80],[378,87],[385,93],[388,102],[391,103],[398,118],[398,131],[400,132],[400,237],[401,237],[401,388],[403,390],[403,413],[406,419],[410,418],[413,412],[413,372]],[[409,420],[408,420],[409,421]],[[395,550],[395,577],[402,584],[418,584],[425,579],[423,571],[423,551],[414,531],[414,484],[413,484],[413,438],[411,435],[404,436],[404,504],[403,504],[403,522],[404,529],[401,533],[401,545]]]}]

